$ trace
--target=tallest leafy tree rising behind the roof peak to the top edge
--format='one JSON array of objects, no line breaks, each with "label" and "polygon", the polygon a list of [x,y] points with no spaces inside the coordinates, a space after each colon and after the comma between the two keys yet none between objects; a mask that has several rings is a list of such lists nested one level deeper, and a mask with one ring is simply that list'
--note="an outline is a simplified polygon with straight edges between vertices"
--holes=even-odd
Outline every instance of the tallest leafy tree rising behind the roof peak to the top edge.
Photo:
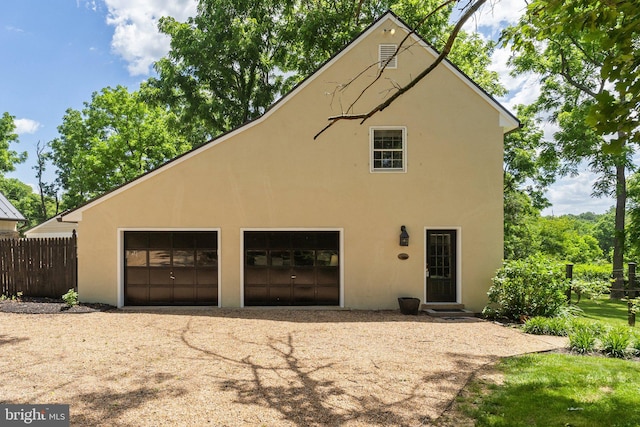
[{"label": "tallest leafy tree rising behind the roof peak to the top edge", "polygon": [[[456,2],[202,0],[187,22],[161,19],[171,50],[156,63],[158,78],[149,86],[156,101],[213,136],[261,115],[388,9],[449,53],[455,37],[446,36],[448,19]],[[493,45],[460,34],[454,63],[491,93],[503,93],[497,74],[482,66]]]}]

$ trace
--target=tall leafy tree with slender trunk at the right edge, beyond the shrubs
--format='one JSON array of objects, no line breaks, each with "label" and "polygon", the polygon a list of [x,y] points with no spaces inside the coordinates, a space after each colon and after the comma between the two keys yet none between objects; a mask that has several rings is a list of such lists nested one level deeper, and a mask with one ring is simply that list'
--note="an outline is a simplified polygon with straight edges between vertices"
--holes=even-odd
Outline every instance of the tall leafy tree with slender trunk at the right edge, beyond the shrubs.
[{"label": "tall leafy tree with slender trunk at the right edge, beyond the shrubs", "polygon": [[542,76],[539,112],[560,132],[548,145],[570,173],[582,161],[600,174],[594,195],[615,194],[612,297],[622,296],[626,170],[640,142],[640,4],[534,0],[503,33],[516,72]]}]

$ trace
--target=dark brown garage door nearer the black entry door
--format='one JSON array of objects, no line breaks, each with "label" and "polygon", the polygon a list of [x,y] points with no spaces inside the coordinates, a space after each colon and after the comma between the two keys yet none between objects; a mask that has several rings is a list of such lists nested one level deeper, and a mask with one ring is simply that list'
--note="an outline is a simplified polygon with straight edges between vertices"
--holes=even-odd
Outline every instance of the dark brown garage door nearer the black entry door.
[{"label": "dark brown garage door nearer the black entry door", "polygon": [[244,304],[339,305],[340,232],[245,231]]}]

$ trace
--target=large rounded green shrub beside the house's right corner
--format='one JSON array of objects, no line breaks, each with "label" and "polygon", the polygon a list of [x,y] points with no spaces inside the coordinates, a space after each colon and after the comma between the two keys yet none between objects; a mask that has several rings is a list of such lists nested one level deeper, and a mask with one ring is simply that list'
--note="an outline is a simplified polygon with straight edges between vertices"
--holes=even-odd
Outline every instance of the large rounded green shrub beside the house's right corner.
[{"label": "large rounded green shrub beside the house's right corner", "polygon": [[554,317],[566,306],[568,286],[565,266],[557,261],[540,255],[505,261],[493,278],[483,313],[511,320]]}]

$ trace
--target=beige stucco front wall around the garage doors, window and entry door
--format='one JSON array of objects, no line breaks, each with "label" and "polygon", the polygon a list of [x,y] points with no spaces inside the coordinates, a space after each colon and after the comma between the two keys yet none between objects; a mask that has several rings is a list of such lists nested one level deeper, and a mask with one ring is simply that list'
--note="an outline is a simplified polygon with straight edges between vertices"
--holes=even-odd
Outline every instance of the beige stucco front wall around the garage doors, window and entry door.
[{"label": "beige stucco front wall around the garage doors, window and entry door", "polygon": [[[377,60],[376,31],[243,128],[82,211],[79,296],[118,303],[125,229],[220,230],[221,305],[241,305],[243,228],[332,228],[344,239],[344,306],[397,308],[398,296],[425,297],[425,228],[457,228],[460,302],[481,310],[502,257],[502,129],[499,113],[444,67],[364,125],[341,122],[314,141],[355,82],[329,95]],[[430,60],[418,47],[385,76],[405,81]],[[412,61],[414,65],[411,65]],[[370,73],[377,71],[377,68]],[[355,112],[382,100],[381,79]],[[333,103],[331,100],[333,99]],[[371,173],[371,126],[407,128],[407,172]],[[400,226],[411,235],[398,246]],[[405,261],[400,252],[409,254]]]}]

